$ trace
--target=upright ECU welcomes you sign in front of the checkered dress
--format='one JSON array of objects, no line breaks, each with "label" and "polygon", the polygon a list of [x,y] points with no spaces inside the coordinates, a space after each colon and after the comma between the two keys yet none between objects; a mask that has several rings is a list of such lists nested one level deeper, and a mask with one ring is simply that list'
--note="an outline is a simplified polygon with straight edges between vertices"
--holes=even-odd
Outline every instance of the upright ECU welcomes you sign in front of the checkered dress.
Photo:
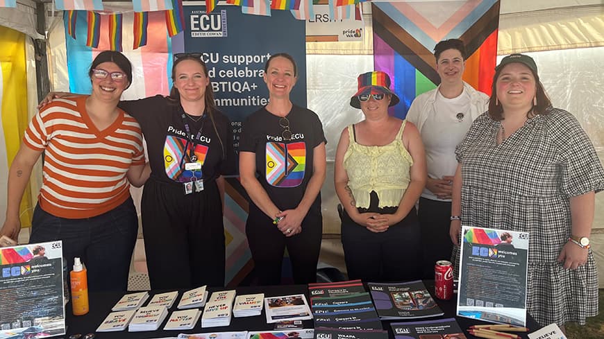
[{"label": "upright ECU welcomes you sign in front of the checkered dress", "polygon": [[526,325],[526,232],[462,227],[457,315]]}]

